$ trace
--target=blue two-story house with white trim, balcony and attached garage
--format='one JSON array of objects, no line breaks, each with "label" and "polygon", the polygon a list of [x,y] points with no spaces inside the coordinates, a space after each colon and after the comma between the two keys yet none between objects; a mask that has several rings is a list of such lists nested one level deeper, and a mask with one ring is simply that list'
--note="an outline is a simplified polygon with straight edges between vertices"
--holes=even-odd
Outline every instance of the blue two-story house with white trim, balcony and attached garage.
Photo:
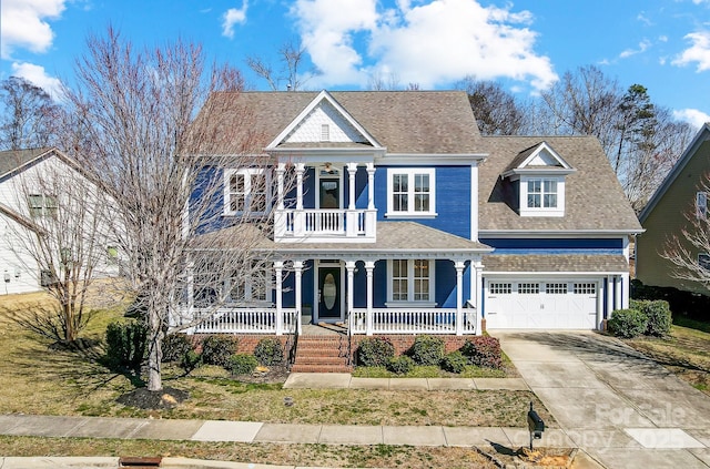
[{"label": "blue two-story house with white trim, balcony and attached garage", "polygon": [[[594,329],[628,304],[641,228],[592,137],[481,136],[459,91],[211,99],[252,110],[250,135],[276,169],[264,333]],[[229,139],[237,153],[240,133]],[[221,172],[224,217],[240,214],[254,171]],[[215,317],[197,330],[254,332],[239,310]]]}]

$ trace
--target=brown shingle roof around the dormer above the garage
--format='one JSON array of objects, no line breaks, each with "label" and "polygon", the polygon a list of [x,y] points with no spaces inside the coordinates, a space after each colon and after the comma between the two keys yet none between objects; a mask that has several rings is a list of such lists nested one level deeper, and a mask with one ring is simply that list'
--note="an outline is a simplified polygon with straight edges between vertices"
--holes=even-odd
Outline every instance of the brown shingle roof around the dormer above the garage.
[{"label": "brown shingle roof around the dormer above the garage", "polygon": [[[577,172],[565,180],[565,216],[529,217],[516,212],[516,184],[501,175],[525,151],[540,142]],[[594,136],[484,136],[488,159],[478,169],[479,231],[510,234],[535,232],[641,232],[641,226],[607,156]],[[529,156],[529,154],[528,154]]]}]

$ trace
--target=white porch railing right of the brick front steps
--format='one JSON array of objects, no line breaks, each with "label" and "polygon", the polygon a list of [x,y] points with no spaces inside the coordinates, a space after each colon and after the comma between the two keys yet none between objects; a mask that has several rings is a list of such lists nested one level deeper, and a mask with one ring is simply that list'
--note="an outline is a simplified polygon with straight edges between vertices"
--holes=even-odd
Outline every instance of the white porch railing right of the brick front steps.
[{"label": "white porch railing right of the brick front steps", "polygon": [[464,308],[457,322],[455,308],[356,308],[351,312],[351,334],[476,334],[476,309]]}]

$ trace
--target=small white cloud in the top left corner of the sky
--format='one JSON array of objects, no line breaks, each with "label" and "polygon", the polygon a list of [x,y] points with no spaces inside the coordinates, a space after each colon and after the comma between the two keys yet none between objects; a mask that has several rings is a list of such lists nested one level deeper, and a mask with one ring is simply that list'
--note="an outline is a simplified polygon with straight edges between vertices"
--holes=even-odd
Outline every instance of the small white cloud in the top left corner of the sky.
[{"label": "small white cloud in the top left corner of the sky", "polygon": [[10,59],[19,48],[45,52],[54,33],[45,20],[55,20],[67,0],[2,0],[0,8],[0,57]]}]

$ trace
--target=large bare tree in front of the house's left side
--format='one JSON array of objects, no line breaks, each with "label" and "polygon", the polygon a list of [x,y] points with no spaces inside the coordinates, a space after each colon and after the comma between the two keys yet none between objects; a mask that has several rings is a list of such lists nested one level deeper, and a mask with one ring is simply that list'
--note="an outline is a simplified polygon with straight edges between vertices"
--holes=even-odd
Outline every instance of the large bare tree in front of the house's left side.
[{"label": "large bare tree in front of the house's left side", "polygon": [[[239,73],[205,73],[201,47],[180,41],[138,51],[109,29],[88,44],[78,88],[67,92],[88,135],[78,157],[115,200],[122,274],[149,328],[148,388],[160,390],[163,338],[200,320],[182,314],[183,302],[201,297],[190,292],[212,288],[204,306],[216,308],[225,285],[247,282],[267,259],[257,248],[271,230],[275,177],[253,110],[234,104]],[[230,169],[248,171],[232,179]],[[234,216],[224,216],[223,183]]]}]

